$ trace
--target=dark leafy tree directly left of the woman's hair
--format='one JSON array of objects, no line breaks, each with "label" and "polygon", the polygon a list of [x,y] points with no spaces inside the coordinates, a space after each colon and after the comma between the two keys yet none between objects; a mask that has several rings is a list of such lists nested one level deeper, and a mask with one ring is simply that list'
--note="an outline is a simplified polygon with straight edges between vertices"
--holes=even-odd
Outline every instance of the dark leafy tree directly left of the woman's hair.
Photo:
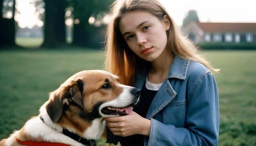
[{"label": "dark leafy tree directly left of the woman's hair", "polygon": [[103,18],[108,13],[108,6],[113,0],[72,0],[70,6],[74,8],[74,45],[101,47],[100,42],[104,41],[105,26],[95,27],[95,24],[89,24],[90,17],[96,21]]}]

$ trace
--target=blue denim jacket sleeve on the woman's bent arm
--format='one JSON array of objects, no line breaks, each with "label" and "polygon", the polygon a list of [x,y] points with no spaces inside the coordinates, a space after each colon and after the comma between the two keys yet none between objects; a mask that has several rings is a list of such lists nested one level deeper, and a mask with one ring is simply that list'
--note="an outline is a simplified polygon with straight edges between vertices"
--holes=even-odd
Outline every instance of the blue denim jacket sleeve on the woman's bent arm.
[{"label": "blue denim jacket sleeve on the woman's bent arm", "polygon": [[151,118],[150,137],[145,138],[146,145],[215,146],[218,144],[218,89],[210,72],[202,75],[195,83],[187,100],[185,127],[176,128]]}]

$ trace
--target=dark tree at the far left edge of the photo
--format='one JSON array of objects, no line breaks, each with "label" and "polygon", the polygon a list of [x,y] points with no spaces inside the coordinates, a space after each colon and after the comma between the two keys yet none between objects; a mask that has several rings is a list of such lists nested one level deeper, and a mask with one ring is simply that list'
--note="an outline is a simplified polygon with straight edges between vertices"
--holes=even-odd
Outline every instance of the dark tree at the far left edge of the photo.
[{"label": "dark tree at the far left edge of the photo", "polygon": [[[0,46],[15,46],[15,0],[7,2],[10,3],[7,4],[9,7],[2,7],[3,0],[0,0]],[[2,10],[11,12],[12,15],[9,18],[3,18]]]}]

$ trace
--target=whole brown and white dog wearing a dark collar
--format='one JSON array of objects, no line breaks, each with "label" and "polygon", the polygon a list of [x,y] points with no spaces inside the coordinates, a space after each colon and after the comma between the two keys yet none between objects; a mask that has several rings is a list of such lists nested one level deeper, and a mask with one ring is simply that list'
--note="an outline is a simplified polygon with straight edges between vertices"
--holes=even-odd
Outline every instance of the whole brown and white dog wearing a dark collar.
[{"label": "whole brown and white dog wearing a dark collar", "polygon": [[39,115],[3,139],[0,146],[96,145],[95,139],[101,138],[106,126],[103,117],[129,114],[139,92],[106,71],[81,71],[50,93]]}]

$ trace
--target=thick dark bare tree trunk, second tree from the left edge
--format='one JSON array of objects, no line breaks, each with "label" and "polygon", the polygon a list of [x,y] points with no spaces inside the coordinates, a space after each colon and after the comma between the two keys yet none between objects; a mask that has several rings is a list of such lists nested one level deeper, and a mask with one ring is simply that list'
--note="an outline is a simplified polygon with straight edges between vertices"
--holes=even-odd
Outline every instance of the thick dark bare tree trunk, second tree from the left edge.
[{"label": "thick dark bare tree trunk, second tree from the left edge", "polygon": [[45,0],[44,47],[66,44],[65,0]]}]

